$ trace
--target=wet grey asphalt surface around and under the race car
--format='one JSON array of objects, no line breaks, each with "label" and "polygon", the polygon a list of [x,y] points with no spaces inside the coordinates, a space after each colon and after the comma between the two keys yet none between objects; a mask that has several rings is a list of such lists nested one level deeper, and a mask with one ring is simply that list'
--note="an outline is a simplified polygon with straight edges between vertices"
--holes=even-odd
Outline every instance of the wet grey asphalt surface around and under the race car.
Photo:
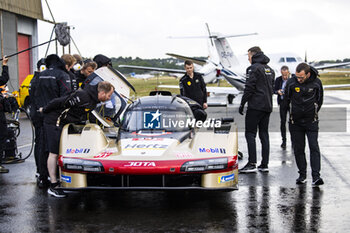
[{"label": "wet grey asphalt surface around and under the race car", "polygon": [[[311,186],[309,167],[307,183],[295,184],[294,157],[290,145],[286,151],[280,148],[275,109],[270,124],[270,171],[241,174],[238,191],[90,191],[58,199],[36,187],[34,157],[30,156],[24,163],[6,165],[10,173],[0,174],[0,232],[347,232],[349,104],[350,92],[326,92],[319,135],[325,184],[319,188]],[[208,112],[213,117],[234,116],[244,153],[239,166],[244,166],[244,117],[236,105]],[[22,116],[18,144],[23,156],[30,149],[28,123]]]}]

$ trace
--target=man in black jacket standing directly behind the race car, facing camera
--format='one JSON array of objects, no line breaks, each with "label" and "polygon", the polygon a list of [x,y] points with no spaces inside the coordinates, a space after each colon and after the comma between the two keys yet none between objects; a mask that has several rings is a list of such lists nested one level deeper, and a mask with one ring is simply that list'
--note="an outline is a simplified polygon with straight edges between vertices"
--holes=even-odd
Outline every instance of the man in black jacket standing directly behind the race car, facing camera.
[{"label": "man in black jacket standing directly behind the race car, facing camera", "polygon": [[180,94],[208,108],[207,88],[201,74],[194,72],[193,62],[185,61],[186,74],[180,79]]}]

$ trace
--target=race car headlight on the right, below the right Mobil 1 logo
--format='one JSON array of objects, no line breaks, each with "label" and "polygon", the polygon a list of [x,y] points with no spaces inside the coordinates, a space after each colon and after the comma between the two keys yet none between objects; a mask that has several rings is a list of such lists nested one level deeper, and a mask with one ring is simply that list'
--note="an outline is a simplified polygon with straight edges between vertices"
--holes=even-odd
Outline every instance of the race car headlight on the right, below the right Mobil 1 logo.
[{"label": "race car headlight on the right, below the right Mobil 1 logo", "polygon": [[182,172],[202,172],[211,170],[221,170],[227,168],[227,158],[204,159],[188,161],[182,164],[180,171]]}]

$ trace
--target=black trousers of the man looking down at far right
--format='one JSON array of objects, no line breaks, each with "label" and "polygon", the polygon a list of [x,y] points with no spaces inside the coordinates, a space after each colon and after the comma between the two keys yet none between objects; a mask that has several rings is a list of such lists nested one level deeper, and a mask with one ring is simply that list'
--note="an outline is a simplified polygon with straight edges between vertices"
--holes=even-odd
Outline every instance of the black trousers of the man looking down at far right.
[{"label": "black trousers of the man looking down at far right", "polygon": [[289,131],[292,138],[295,161],[299,169],[299,174],[306,177],[306,157],[305,157],[305,135],[309,142],[310,164],[312,179],[320,177],[321,155],[318,146],[318,121],[309,123],[289,123]]}]

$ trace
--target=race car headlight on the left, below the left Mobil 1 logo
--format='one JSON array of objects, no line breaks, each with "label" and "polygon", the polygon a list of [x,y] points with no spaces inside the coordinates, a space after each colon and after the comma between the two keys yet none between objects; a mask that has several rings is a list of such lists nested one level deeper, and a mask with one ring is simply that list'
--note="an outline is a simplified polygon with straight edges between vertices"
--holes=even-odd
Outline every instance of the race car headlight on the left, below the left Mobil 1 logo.
[{"label": "race car headlight on the left, below the left Mobil 1 logo", "polygon": [[85,171],[85,172],[102,172],[104,171],[102,163],[98,161],[63,158],[63,167],[67,170]]}]

